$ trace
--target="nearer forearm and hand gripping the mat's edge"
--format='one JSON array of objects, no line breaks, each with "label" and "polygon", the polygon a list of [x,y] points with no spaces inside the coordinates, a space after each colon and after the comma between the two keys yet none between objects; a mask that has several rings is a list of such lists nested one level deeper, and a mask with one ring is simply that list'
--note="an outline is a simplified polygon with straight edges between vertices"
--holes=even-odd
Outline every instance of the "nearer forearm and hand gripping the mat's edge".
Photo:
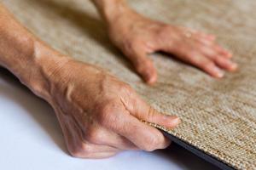
[{"label": "nearer forearm and hand gripping the mat's edge", "polygon": [[170,144],[163,133],[144,122],[173,128],[179,123],[177,116],[155,111],[106,71],[49,48],[1,3],[0,37],[0,65],[54,108],[73,156],[102,158]]}]

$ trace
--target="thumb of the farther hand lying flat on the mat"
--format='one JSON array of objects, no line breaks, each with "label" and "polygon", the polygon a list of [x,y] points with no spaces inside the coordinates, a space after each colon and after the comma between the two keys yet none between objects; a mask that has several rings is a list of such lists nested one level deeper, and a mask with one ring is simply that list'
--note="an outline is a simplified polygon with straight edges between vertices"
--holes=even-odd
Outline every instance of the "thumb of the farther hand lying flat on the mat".
[{"label": "thumb of the farther hand lying flat on the mat", "polygon": [[148,84],[153,84],[157,80],[157,72],[151,59],[148,59],[147,54],[136,52],[127,56],[131,59],[137,73],[143,77],[143,80]]}]

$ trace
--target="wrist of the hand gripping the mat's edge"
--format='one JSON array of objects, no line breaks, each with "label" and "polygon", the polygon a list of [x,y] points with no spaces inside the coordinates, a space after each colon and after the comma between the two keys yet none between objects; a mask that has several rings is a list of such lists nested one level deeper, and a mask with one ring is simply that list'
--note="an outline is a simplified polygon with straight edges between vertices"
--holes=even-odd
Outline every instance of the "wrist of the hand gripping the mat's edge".
[{"label": "wrist of the hand gripping the mat's edge", "polygon": [[26,77],[26,86],[38,96],[49,101],[52,83],[58,79],[55,77],[55,73],[73,59],[60,54],[40,41],[34,44],[34,56],[32,58],[33,66],[30,71],[33,73]]}]

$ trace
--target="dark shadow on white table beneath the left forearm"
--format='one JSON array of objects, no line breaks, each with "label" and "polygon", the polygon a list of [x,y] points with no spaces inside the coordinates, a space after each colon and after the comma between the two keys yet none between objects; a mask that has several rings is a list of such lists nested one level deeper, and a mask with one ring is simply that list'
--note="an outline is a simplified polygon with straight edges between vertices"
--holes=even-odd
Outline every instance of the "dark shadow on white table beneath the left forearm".
[{"label": "dark shadow on white table beneath the left forearm", "polygon": [[23,86],[20,81],[8,70],[0,67],[0,78],[7,82],[7,86],[0,83],[0,95],[11,99],[26,110],[32,118],[45,130],[53,142],[67,152],[64,138],[62,137],[61,127],[59,126],[53,109],[43,99]]}]

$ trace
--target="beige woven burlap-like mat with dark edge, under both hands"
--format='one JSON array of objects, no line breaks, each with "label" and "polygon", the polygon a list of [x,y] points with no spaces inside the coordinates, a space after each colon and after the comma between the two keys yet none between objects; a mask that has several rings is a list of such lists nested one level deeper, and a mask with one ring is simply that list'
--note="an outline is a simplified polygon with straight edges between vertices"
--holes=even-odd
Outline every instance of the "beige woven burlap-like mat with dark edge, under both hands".
[{"label": "beige woven burlap-like mat with dark edge, under both hands", "polygon": [[168,133],[231,167],[256,169],[256,1],[128,1],[156,20],[217,35],[240,65],[236,73],[216,80],[167,55],[153,54],[159,73],[154,87],[145,85],[109,42],[89,0],[2,1],[54,48],[102,66],[130,83],[156,109],[180,116],[183,123]]}]

